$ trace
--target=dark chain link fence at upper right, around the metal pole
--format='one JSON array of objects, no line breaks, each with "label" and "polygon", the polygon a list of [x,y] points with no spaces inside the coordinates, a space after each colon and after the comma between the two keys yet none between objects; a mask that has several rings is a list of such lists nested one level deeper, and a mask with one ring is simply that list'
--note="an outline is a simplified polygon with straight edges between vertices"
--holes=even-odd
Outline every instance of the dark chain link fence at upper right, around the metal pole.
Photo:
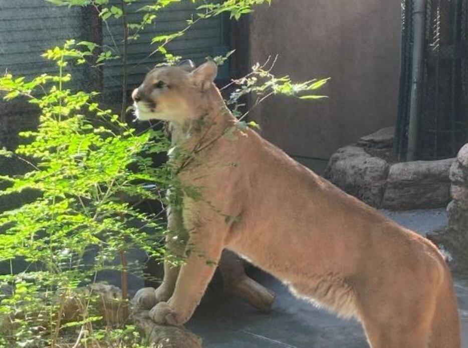
[{"label": "dark chain link fence at upper right, around the metal pole", "polygon": [[[405,160],[413,79],[414,0],[402,0],[398,117],[394,152]],[[454,157],[468,141],[468,0],[426,0],[416,158]]]}]

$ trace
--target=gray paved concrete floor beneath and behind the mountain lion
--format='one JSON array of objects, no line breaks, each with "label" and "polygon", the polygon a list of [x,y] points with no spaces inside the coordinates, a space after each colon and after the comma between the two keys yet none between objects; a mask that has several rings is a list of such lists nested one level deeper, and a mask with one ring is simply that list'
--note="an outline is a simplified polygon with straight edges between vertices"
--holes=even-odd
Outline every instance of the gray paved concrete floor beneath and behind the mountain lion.
[{"label": "gray paved concrete floor beneath and behind the mountain lion", "polygon": [[[425,233],[446,221],[443,209],[384,212],[398,223]],[[293,297],[273,277],[253,277],[277,293],[270,314],[262,314],[235,298],[202,303],[187,328],[203,339],[204,348],[367,348],[360,325],[336,318]],[[468,348],[468,279],[456,279],[463,348]]]}]

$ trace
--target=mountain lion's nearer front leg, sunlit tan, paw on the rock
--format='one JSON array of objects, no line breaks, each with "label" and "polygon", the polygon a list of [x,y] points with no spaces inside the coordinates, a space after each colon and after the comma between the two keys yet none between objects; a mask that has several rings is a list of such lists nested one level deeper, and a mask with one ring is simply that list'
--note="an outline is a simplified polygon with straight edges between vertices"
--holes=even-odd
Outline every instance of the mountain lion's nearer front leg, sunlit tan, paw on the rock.
[{"label": "mountain lion's nearer front leg, sunlit tan, paw on the rock", "polygon": [[190,232],[189,256],[181,267],[174,293],[167,302],[159,302],[150,317],[159,324],[182,325],[192,316],[216,269],[224,236],[219,230],[199,226]]}]

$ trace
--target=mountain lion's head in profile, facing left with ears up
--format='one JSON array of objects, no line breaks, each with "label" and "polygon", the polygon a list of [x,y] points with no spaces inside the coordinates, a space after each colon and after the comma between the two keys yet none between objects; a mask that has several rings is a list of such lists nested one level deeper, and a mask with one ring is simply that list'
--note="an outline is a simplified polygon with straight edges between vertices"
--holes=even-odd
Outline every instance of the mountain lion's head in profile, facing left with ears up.
[{"label": "mountain lion's head in profile, facing left with ears up", "polygon": [[209,98],[216,90],[216,72],[213,62],[195,69],[191,61],[151,70],[132,93],[136,117],[177,123],[199,117],[207,112]]}]

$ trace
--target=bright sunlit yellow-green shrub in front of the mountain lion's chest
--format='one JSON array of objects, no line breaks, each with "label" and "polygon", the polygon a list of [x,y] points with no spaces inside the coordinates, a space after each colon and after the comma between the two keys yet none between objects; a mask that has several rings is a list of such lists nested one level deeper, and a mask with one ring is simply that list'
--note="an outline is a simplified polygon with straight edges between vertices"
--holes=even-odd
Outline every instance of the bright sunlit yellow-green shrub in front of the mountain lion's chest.
[{"label": "bright sunlit yellow-green shrub in front of the mountain lion's chest", "polygon": [[[10,184],[0,195],[26,189],[40,193],[34,201],[0,213],[5,230],[0,259],[12,264],[21,259],[29,265],[19,274],[12,270],[0,276],[0,282],[13,286],[12,294],[2,300],[2,312],[18,326],[19,345],[31,337],[34,341],[28,344],[38,346],[56,339],[50,332],[61,324],[61,303],[54,303],[57,292],[92,282],[97,272],[116,267],[116,255],[130,249],[140,248],[157,258],[164,253],[165,228],[158,216],[138,211],[123,197],[132,202],[162,200],[171,182],[170,170],[155,167],[151,156],[166,151],[168,143],[161,131],[137,134],[118,115],[101,110],[93,101],[96,93],[66,89],[71,76],[64,69],[86,53],[70,40],[44,55],[56,62],[58,75],[41,75],[30,82],[9,74],[0,78],[6,99],[25,96],[41,111],[38,130],[20,134],[30,142],[14,153],[2,151],[21,157],[31,170],[0,177]],[[90,249],[96,261],[86,264],[83,257]],[[19,310],[25,311],[21,320],[16,317]],[[39,325],[42,320],[47,324]],[[36,326],[44,329],[35,334],[31,327]]]}]

